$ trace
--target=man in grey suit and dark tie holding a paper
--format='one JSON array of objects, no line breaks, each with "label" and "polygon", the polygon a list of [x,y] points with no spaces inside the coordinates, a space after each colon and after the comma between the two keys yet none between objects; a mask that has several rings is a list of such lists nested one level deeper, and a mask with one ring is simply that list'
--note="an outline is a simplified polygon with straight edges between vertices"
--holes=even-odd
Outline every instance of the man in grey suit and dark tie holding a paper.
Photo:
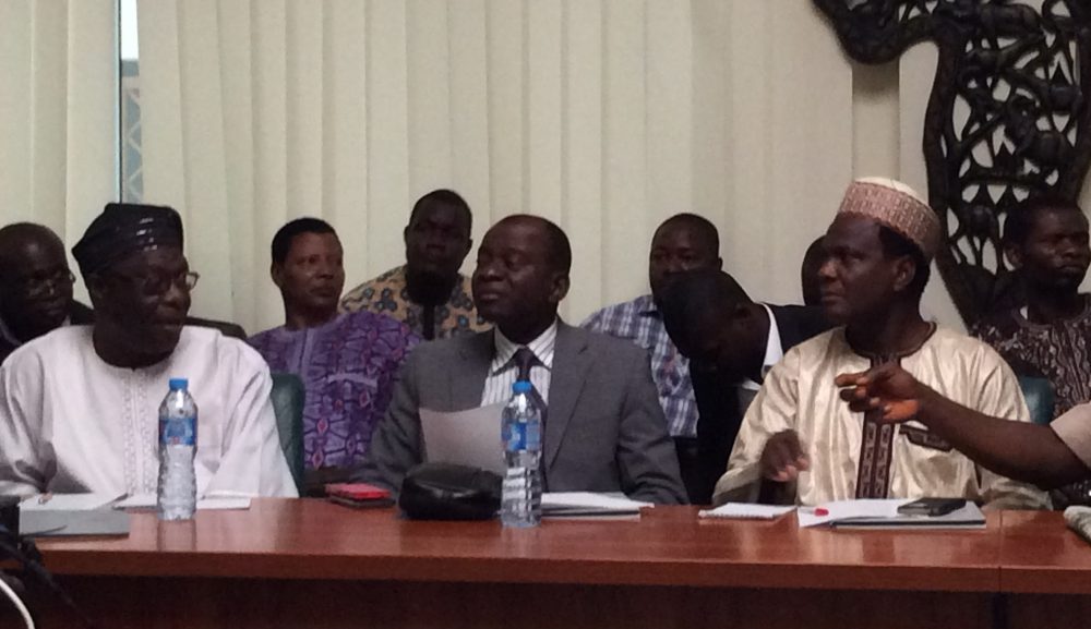
[{"label": "man in grey suit and dark tie holding a paper", "polygon": [[509,216],[485,233],[473,299],[495,328],[413,350],[358,480],[397,492],[423,459],[421,408],[451,412],[503,402],[516,377],[529,376],[547,407],[547,491],[685,501],[647,353],[558,317],[571,263],[567,237],[543,218]]}]

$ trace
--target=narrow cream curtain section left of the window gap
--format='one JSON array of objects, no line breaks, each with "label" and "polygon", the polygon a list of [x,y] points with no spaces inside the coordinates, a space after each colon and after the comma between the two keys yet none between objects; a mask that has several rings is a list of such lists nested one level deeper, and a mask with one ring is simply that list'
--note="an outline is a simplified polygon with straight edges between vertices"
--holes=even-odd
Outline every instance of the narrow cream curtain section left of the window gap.
[{"label": "narrow cream curtain section left of the window gap", "polygon": [[117,195],[113,0],[0,0],[0,225],[69,244]]}]

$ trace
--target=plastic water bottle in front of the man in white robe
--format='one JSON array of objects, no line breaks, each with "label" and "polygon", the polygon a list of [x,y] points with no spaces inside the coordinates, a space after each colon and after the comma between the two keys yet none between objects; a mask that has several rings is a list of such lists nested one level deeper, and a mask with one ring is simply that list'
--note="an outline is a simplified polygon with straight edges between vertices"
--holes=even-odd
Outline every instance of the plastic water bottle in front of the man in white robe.
[{"label": "plastic water bottle in front of the man in white robe", "polygon": [[170,392],[159,404],[159,491],[156,506],[160,520],[189,520],[197,507],[197,481],[193,472],[193,457],[197,449],[197,406],[188,387],[185,378],[171,378]]}]

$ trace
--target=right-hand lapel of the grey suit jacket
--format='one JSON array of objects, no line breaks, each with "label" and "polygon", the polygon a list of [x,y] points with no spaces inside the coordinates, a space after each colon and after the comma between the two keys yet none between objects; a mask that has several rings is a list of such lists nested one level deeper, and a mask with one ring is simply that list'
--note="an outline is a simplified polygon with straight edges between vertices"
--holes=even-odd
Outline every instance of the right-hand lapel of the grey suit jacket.
[{"label": "right-hand lapel of the grey suit jacket", "polygon": [[556,346],[549,385],[549,418],[546,422],[546,469],[549,470],[561,448],[561,439],[576,409],[591,355],[587,351],[587,332],[558,323]]}]

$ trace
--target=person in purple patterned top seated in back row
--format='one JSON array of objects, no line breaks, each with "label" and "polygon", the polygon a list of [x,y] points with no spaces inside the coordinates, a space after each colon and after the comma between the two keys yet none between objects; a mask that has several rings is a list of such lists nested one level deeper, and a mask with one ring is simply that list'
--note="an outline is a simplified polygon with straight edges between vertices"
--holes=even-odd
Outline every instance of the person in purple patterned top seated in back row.
[{"label": "person in purple patterned top seated in back row", "polygon": [[340,241],[333,227],[300,218],[273,238],[273,282],[285,325],[250,338],[274,372],[305,385],[305,467],[322,481],[340,480],[371,444],[386,412],[398,370],[420,341],[404,324],[361,311],[338,313],[345,285]]}]

